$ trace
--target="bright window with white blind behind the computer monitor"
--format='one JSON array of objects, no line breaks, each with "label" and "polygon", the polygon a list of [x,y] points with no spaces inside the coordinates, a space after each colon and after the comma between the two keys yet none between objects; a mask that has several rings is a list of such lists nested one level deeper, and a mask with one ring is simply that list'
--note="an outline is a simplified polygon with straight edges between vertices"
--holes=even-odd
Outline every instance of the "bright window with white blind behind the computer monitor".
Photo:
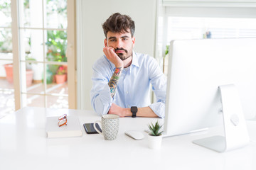
[{"label": "bright window with white blind behind the computer monitor", "polygon": [[210,5],[202,1],[160,6],[156,57],[165,74],[168,69],[165,52],[171,40],[256,37],[255,5],[250,8],[245,4],[237,8],[239,3],[233,4],[235,6],[223,6],[221,2]]}]

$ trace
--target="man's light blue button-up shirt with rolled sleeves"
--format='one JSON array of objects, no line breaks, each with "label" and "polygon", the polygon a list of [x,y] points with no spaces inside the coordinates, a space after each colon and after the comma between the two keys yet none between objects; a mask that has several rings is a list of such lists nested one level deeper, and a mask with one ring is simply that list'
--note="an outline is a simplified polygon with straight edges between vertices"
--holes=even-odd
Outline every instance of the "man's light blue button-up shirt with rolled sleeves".
[{"label": "man's light blue button-up shirt with rolled sleeves", "polygon": [[[91,104],[98,115],[107,114],[112,103],[116,103],[122,108],[149,106],[156,115],[164,118],[166,76],[153,57],[132,53],[132,64],[122,71],[113,98],[108,82],[114,73],[114,64],[104,55],[92,69]],[[156,95],[156,103],[150,102],[150,84]]]}]

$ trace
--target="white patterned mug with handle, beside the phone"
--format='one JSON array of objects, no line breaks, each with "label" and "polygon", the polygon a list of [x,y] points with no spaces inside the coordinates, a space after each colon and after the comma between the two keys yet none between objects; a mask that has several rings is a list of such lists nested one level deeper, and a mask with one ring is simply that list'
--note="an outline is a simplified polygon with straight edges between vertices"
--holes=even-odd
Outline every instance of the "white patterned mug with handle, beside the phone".
[{"label": "white patterned mug with handle, beside the phone", "polygon": [[[102,132],[97,129],[96,123],[101,124]],[[102,115],[101,121],[93,124],[95,130],[104,136],[105,140],[114,140],[117,138],[119,130],[119,115]]]}]

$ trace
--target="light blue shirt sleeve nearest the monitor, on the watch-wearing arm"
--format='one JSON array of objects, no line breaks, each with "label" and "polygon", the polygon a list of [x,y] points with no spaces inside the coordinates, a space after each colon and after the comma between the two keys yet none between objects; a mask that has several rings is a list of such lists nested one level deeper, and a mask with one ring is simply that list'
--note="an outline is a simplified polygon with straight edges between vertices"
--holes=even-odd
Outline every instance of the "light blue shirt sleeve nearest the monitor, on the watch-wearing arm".
[{"label": "light blue shirt sleeve nearest the monitor, on the watch-wearing arm", "polygon": [[152,103],[149,107],[160,118],[165,115],[166,101],[166,76],[161,71],[159,64],[154,58],[149,62],[149,79],[152,84],[154,94],[156,95],[156,103]]}]

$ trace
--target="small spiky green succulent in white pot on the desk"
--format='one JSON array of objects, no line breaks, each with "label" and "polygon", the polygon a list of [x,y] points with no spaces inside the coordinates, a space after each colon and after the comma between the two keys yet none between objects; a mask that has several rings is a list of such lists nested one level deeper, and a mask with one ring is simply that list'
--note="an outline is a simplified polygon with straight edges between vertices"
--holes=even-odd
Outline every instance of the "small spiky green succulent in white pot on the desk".
[{"label": "small spiky green succulent in white pot on the desk", "polygon": [[161,148],[161,141],[162,141],[162,132],[161,127],[163,125],[160,125],[158,121],[156,121],[155,124],[151,123],[149,124],[149,148],[151,149],[160,149]]}]

